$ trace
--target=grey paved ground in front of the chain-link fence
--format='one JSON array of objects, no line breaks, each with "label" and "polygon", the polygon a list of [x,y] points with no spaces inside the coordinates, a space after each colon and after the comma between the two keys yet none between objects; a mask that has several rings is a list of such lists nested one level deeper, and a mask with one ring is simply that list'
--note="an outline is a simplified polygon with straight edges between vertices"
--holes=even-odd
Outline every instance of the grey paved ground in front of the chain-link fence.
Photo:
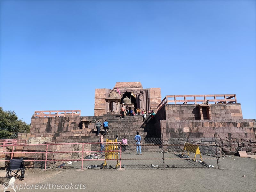
[{"label": "grey paved ground in front of the chain-link fence", "polygon": [[[220,170],[212,168],[177,168],[165,171],[161,169],[85,169],[84,171],[32,169],[26,171],[25,180],[17,181],[15,184],[18,185],[17,192],[19,187],[24,188],[25,184],[26,189],[20,191],[255,191],[255,167],[256,159],[231,156],[221,157]],[[4,174],[4,170],[1,170],[0,176]],[[243,177],[244,175],[246,177]],[[55,189],[52,189],[52,183]],[[31,188],[29,185],[32,184],[41,184],[45,188],[47,186],[47,189],[35,189],[35,186]],[[50,190],[49,184],[51,184]],[[57,189],[58,184],[60,188],[68,189]],[[12,191],[10,188],[8,190]]]}]

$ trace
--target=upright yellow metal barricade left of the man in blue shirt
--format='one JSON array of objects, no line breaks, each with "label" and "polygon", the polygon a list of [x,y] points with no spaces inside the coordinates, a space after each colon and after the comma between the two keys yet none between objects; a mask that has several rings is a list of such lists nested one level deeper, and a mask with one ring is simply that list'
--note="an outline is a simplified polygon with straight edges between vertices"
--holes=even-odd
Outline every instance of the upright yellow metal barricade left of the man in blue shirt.
[{"label": "upright yellow metal barricade left of the man in blue shirt", "polygon": [[109,140],[107,139],[106,140],[106,147],[105,147],[105,162],[103,164],[103,168],[105,166],[107,166],[107,160],[108,159],[117,159],[117,164],[116,164],[116,169],[118,166],[120,166],[120,163],[118,161],[118,145],[113,143],[113,142],[117,142],[117,139],[115,140]]}]

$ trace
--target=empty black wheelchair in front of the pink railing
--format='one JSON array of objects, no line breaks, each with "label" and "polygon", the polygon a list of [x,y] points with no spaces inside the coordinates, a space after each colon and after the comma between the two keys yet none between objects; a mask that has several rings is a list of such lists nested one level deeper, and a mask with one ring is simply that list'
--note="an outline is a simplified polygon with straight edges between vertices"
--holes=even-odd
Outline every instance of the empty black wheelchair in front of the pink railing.
[{"label": "empty black wheelchair in front of the pink railing", "polygon": [[[16,172],[15,172],[16,170]],[[20,174],[18,174],[20,172]],[[6,169],[6,177],[14,177],[18,175],[18,179],[24,180],[25,177],[25,166],[23,158],[21,159],[10,159],[10,164]]]}]

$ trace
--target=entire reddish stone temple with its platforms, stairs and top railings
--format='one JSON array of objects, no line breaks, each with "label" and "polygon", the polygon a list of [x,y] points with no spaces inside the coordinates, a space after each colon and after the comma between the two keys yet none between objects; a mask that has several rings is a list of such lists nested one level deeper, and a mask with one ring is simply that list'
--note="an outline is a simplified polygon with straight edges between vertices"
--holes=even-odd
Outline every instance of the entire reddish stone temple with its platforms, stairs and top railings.
[{"label": "entire reddish stone temple with its platforms, stairs and top railings", "polygon": [[[142,121],[141,115],[120,118],[120,107],[126,103],[134,110],[154,109]],[[160,88],[143,88],[140,82],[117,82],[113,89],[95,89],[94,116],[81,116],[80,110],[35,111],[30,133],[20,133],[18,139],[30,144],[88,142],[97,140],[93,126],[97,120],[109,122],[105,138],[126,136],[136,132],[143,138],[203,141],[216,138],[222,154],[237,151],[256,154],[255,119],[244,119],[236,95],[167,95],[161,100]]]}]

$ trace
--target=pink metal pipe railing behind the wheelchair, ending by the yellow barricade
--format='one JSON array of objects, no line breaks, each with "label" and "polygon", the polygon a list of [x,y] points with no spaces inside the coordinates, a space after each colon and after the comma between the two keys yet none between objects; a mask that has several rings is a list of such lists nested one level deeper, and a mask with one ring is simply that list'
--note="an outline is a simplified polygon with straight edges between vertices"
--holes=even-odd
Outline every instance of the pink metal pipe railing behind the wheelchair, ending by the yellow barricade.
[{"label": "pink metal pipe railing behind the wheelchair, ending by the yellow barricade", "polygon": [[[82,151],[48,151],[48,146],[50,145],[77,145],[77,144],[82,144]],[[100,143],[51,143],[51,144],[32,144],[32,145],[24,145],[24,144],[13,144],[13,145],[5,145],[5,147],[12,147],[12,152],[0,152],[0,154],[10,154],[11,159],[13,158],[14,154],[45,154],[45,159],[27,159],[24,161],[45,161],[44,169],[46,169],[46,164],[47,161],[82,161],[82,166],[81,169],[83,169],[83,162],[84,161],[103,161],[103,160],[120,160],[120,169],[121,169],[121,154],[122,154],[122,147],[121,147],[121,142],[103,142],[103,144],[118,144],[120,145],[120,150],[111,150],[111,151],[103,151],[103,152],[120,152],[120,159],[84,159],[84,152],[100,152],[98,151],[88,151],[84,150],[84,145],[85,144],[97,144],[99,145]],[[27,151],[27,152],[15,152],[14,148],[17,146],[46,146],[46,151],[43,152],[36,152],[36,151]],[[82,159],[47,159],[47,155],[50,153],[82,153]],[[44,156],[44,155],[43,155]],[[10,160],[0,160],[0,161],[7,161],[9,162]]]}]

